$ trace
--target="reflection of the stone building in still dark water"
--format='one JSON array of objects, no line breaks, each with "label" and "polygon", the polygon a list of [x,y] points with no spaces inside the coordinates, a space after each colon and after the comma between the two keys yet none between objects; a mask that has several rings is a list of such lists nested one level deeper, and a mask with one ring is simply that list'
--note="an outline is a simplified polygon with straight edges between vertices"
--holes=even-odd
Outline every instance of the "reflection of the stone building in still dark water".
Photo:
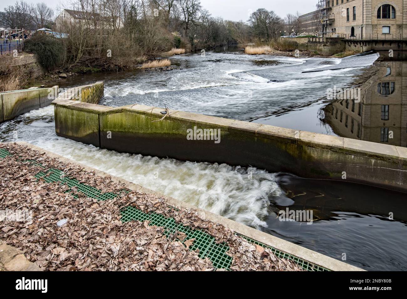
[{"label": "reflection of the stone building in still dark water", "polygon": [[377,72],[361,88],[361,100],[339,99],[326,105],[324,121],[335,134],[407,147],[407,61],[405,53],[376,63]]}]

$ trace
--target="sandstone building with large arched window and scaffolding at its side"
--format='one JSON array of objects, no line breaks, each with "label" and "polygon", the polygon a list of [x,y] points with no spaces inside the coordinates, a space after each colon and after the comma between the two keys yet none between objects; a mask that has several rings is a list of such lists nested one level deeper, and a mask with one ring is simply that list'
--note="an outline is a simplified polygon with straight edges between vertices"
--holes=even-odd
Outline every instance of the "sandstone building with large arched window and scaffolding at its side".
[{"label": "sandstone building with large arched window and scaffolding at its side", "polygon": [[319,8],[321,35],[407,39],[407,0],[320,0]]}]

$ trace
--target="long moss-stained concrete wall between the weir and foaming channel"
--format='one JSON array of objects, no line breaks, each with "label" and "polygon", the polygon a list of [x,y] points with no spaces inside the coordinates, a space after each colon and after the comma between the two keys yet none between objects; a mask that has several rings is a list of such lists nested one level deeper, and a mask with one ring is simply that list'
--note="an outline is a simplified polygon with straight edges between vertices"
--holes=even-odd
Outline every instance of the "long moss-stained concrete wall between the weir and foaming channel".
[{"label": "long moss-stained concrete wall between the weir and foaming channel", "polygon": [[[162,108],[144,105],[115,108],[69,100],[53,105],[57,135],[108,150],[407,191],[407,148],[184,111],[162,119]],[[194,127],[219,129],[220,142],[188,140],[187,130]]]}]

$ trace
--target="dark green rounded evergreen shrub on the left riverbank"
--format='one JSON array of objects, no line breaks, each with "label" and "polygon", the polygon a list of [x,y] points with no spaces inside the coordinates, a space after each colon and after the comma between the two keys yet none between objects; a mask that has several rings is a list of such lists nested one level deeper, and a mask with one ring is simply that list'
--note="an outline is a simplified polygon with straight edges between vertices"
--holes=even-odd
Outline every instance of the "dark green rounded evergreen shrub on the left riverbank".
[{"label": "dark green rounded evergreen shrub on the left riverbank", "polygon": [[25,42],[25,51],[37,55],[46,70],[53,70],[61,63],[61,45],[51,35],[35,34]]}]

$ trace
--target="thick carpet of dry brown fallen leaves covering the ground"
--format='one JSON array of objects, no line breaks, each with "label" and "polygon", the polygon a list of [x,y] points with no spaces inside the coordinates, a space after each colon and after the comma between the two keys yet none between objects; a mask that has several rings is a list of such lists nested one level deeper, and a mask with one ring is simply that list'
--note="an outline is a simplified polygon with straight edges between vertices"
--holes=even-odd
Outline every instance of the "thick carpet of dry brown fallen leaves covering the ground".
[{"label": "thick carpet of dry brown fallen leaves covering the ground", "polygon": [[[228,255],[233,258],[231,270],[302,271],[297,264],[276,257],[270,249],[253,245],[223,225],[200,218],[195,209],[176,210],[156,195],[126,193],[124,185],[110,177],[64,164],[20,144],[0,144],[0,148],[12,154],[0,159],[0,210],[32,212],[32,223],[0,219],[0,240],[22,250],[28,260],[45,271],[215,270],[210,260],[199,258],[197,251],[187,248],[195,239],[185,240],[186,235],[180,232],[166,238],[163,227],[149,226],[148,221],[122,223],[120,210],[126,206],[173,217],[191,229],[206,231],[218,243],[228,243]],[[118,196],[98,201],[76,188],[64,193],[70,189],[68,186],[35,178],[38,172],[52,168]],[[57,226],[63,218],[68,222]]]}]

